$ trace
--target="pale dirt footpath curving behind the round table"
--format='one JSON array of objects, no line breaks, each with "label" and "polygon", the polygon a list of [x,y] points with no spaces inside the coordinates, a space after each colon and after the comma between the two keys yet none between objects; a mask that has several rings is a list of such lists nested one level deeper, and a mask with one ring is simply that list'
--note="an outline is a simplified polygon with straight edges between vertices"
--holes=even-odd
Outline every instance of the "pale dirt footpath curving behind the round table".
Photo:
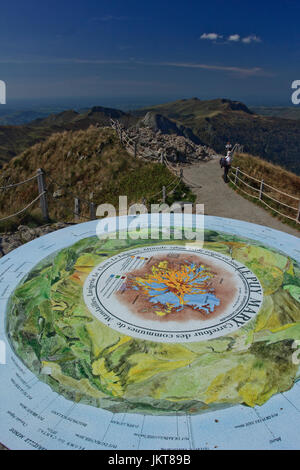
[{"label": "pale dirt footpath curving behind the round table", "polygon": [[199,162],[183,169],[184,179],[205,205],[206,215],[245,220],[299,237],[300,232],[280,222],[267,211],[233,191],[222,178],[219,159]]}]

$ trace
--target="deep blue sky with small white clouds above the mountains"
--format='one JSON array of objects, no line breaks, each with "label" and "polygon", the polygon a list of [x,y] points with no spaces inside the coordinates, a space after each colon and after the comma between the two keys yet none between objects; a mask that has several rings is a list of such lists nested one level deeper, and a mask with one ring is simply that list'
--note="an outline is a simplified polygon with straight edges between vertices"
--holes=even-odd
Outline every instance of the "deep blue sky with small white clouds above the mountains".
[{"label": "deep blue sky with small white clouds above the mountains", "polygon": [[291,105],[300,2],[11,0],[0,15],[7,102],[226,97]]}]

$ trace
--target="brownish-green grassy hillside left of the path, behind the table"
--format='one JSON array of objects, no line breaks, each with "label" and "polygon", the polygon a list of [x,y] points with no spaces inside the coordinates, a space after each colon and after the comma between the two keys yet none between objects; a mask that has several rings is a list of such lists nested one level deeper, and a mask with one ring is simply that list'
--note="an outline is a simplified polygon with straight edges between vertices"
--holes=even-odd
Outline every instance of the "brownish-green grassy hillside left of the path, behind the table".
[{"label": "brownish-green grassy hillside left of the path, behind the table", "polygon": [[[160,202],[159,193],[163,185],[178,179],[170,171],[156,163],[147,163],[134,159],[123,147],[112,129],[91,126],[83,131],[70,131],[52,135],[47,141],[38,143],[24,153],[5,164],[2,170],[0,186],[27,179],[43,168],[48,175],[66,190],[62,197],[51,196],[59,189],[47,179],[49,189],[50,216],[54,220],[74,220],[74,196],[88,200],[91,193],[96,204],[111,203],[118,206],[119,195],[127,195],[128,203]],[[191,199],[187,188],[180,184],[173,198],[180,199],[183,193]],[[34,180],[16,189],[0,192],[0,218],[15,213],[37,195],[37,183]],[[31,211],[32,215],[40,212],[38,204]],[[82,205],[82,213],[89,215],[88,204]],[[18,217],[13,223],[20,224]]]}]

